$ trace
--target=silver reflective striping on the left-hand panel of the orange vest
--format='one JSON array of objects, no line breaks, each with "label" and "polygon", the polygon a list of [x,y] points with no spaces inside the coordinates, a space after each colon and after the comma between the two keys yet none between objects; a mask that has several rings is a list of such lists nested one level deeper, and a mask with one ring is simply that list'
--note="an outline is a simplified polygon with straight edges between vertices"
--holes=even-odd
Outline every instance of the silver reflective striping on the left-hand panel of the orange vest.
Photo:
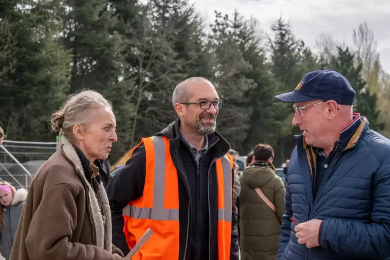
[{"label": "silver reflective striping on the left-hand panel of the orange vest", "polygon": [[139,208],[127,205],[122,214],[137,219],[177,220],[178,209],[165,209],[165,143],[162,136],[153,137],[154,147],[154,180],[153,208]]}]

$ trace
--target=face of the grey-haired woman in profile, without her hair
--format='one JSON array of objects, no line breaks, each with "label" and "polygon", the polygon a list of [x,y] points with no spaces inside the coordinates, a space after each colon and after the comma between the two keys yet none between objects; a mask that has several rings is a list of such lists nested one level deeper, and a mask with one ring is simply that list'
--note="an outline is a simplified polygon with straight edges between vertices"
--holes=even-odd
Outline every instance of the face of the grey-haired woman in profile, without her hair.
[{"label": "face of the grey-haired woman in profile, without her hair", "polygon": [[117,141],[115,128],[115,117],[109,108],[94,110],[86,126],[74,128],[74,134],[79,140],[77,145],[91,163],[95,159],[108,158],[112,143]]}]

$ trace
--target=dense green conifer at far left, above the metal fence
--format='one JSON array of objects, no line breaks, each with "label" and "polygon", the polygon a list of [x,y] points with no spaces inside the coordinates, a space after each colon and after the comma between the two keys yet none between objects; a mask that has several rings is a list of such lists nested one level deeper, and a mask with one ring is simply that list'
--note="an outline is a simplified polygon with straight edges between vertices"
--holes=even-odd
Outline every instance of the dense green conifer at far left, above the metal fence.
[{"label": "dense green conifer at far left, above the metal fence", "polygon": [[9,48],[0,48],[8,65],[0,76],[0,124],[10,139],[53,141],[47,122],[66,99],[70,62],[58,41],[56,2],[2,2],[0,37]]}]

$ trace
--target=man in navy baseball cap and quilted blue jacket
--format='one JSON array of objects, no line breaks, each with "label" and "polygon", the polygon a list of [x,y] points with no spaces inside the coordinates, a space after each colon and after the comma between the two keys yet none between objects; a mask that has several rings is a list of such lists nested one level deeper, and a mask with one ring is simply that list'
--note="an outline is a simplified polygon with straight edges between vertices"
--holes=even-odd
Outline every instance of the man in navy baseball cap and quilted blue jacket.
[{"label": "man in navy baseball cap and quilted blue jacket", "polygon": [[291,154],[277,260],[390,257],[390,140],[352,113],[356,92],[313,71],[275,98],[294,103],[303,135]]}]

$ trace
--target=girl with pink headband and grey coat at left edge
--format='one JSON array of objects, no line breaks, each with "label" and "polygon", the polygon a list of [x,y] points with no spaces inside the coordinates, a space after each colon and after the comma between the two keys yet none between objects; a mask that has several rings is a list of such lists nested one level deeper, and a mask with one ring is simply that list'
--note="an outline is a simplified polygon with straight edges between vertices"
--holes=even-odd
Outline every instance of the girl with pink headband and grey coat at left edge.
[{"label": "girl with pink headband and grey coat at left edge", "polygon": [[27,190],[16,190],[6,181],[0,181],[0,253],[8,260],[15,240],[19,218],[22,213]]}]

